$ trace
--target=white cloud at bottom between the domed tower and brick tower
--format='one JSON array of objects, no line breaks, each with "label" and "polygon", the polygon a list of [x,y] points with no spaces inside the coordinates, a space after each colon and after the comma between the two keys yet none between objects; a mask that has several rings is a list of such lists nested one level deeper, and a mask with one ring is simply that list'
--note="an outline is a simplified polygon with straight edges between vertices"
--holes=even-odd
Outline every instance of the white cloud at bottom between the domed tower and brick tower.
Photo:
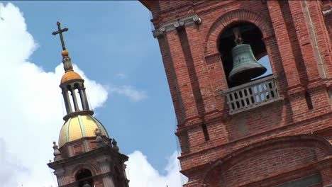
[{"label": "white cloud at bottom between the domed tower and brick tower", "polygon": [[161,175],[148,162],[147,157],[139,151],[129,154],[129,161],[126,169],[129,186],[131,187],[181,187],[187,179],[179,173],[179,160],[177,152],[168,158],[165,168],[166,174]]}]

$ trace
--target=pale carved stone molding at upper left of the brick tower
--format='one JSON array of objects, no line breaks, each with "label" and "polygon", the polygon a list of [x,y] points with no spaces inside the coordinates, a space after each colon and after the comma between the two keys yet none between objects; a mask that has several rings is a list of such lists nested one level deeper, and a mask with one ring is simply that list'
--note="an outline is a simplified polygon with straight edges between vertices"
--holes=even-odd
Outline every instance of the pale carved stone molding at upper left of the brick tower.
[{"label": "pale carved stone molding at upper left of the brick tower", "polygon": [[160,24],[160,27],[156,30],[153,30],[153,38],[159,38],[167,32],[175,30],[177,28],[181,28],[183,26],[189,26],[192,24],[201,24],[201,18],[197,15],[197,13],[192,13],[182,18],[179,18],[175,21],[167,21],[165,23]]}]

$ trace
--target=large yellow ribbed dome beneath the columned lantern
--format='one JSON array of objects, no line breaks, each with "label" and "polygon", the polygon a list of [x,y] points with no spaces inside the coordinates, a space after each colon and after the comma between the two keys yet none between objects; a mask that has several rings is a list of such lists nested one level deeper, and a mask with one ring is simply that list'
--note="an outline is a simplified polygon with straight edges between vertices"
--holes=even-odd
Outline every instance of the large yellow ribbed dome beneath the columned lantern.
[{"label": "large yellow ribbed dome beneath the columned lantern", "polygon": [[82,137],[96,137],[96,128],[100,130],[101,135],[109,137],[104,126],[92,115],[76,115],[69,118],[60,131],[59,146]]}]

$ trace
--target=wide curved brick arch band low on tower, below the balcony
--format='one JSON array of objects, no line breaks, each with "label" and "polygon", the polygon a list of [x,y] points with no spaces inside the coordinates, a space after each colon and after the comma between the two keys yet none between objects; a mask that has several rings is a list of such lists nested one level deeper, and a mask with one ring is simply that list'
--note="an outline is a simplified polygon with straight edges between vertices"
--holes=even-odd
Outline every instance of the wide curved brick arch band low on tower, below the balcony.
[{"label": "wide curved brick arch band low on tower, below the balcony", "polygon": [[[248,157],[248,153],[249,154],[253,154],[253,152],[260,153],[264,151],[263,149],[271,149],[269,147],[272,147],[272,149],[275,147],[280,147],[280,149],[284,149],[285,145],[290,145],[289,149],[301,147],[301,148],[314,150],[315,148],[318,151],[315,154],[323,152],[322,154],[323,157],[317,158],[319,159],[318,161],[326,157],[331,157],[332,155],[332,145],[330,142],[328,142],[328,140],[326,140],[323,137],[318,137],[315,135],[277,137],[274,139],[265,140],[263,142],[257,142],[254,143],[253,145],[248,145],[247,147],[243,147],[241,149],[236,150],[235,152],[232,152],[231,154],[226,155],[226,157],[217,159],[215,162],[211,163],[210,166],[205,171],[203,171],[199,183],[201,186],[206,185],[206,182],[209,181],[209,176],[213,176],[215,170],[221,168],[227,169],[231,168],[232,166],[235,166],[238,163],[238,159],[243,161],[243,158]],[[250,158],[251,157],[248,157],[248,159]]]}]

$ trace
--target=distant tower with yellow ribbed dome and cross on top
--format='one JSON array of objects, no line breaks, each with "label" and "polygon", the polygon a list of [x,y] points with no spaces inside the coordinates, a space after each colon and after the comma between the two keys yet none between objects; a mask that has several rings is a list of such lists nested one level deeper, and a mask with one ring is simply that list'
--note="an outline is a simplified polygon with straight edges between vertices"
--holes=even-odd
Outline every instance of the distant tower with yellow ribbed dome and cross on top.
[{"label": "distant tower with yellow ribbed dome and cross on top", "polygon": [[65,50],[62,32],[57,23],[62,42],[62,62],[65,74],[60,88],[67,115],[59,135],[59,146],[53,142],[54,169],[59,187],[128,187],[126,165],[128,157],[119,152],[116,140],[109,138],[104,126],[90,110],[84,79],[74,72],[69,52]]}]

